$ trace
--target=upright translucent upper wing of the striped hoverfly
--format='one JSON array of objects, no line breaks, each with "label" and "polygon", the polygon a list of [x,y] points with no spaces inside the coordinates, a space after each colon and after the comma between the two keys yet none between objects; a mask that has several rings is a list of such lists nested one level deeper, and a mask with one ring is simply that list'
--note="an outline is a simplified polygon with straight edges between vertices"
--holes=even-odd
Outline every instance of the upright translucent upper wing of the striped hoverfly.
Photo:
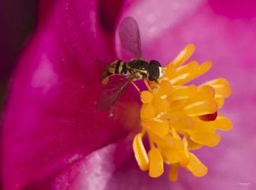
[{"label": "upright translucent upper wing of the striped hoverfly", "polygon": [[133,52],[139,59],[142,55],[139,25],[133,17],[124,17],[119,27],[120,43],[124,49]]}]

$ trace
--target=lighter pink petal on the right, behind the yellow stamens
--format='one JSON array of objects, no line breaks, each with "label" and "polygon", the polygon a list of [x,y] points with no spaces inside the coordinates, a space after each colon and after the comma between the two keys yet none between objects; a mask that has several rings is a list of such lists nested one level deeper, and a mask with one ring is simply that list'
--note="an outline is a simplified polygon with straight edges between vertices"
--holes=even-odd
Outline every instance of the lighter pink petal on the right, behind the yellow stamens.
[{"label": "lighter pink petal on the right, behind the yellow stamens", "polygon": [[[213,61],[213,69],[196,82],[218,77],[229,79],[233,93],[222,113],[232,119],[233,129],[222,134],[222,142],[217,147],[197,151],[209,167],[209,173],[203,179],[195,179],[186,172],[181,172],[179,182],[175,184],[168,182],[166,173],[162,179],[149,179],[145,173],[134,169],[136,163],[130,160],[110,180],[110,189],[254,189],[256,20],[251,10],[255,10],[256,3],[235,1],[237,6],[229,6],[225,1],[211,1],[209,4],[199,3],[195,10],[196,3],[176,2],[181,8],[188,6],[185,15],[179,12],[181,9],[171,11],[175,7],[175,2],[172,3],[141,2],[123,15],[135,15],[139,21],[142,40],[144,37],[144,58],[160,60],[165,65],[187,43],[195,43],[197,50],[193,59]],[[234,10],[237,7],[249,10],[238,12],[238,9]],[[178,17],[177,22],[175,17]],[[122,53],[119,46],[118,51]]]}]

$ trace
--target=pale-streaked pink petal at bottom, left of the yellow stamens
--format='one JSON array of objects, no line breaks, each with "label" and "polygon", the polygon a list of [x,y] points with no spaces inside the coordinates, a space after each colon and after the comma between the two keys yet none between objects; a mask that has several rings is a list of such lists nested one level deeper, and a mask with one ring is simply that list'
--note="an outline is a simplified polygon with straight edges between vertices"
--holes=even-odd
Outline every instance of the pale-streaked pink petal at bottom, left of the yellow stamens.
[{"label": "pale-streaked pink petal at bottom, left of the yellow stamens", "polygon": [[60,173],[53,182],[53,188],[57,190],[113,189],[109,187],[113,173],[122,166],[127,157],[132,156],[132,151],[132,143],[127,140],[94,151],[65,172]]}]

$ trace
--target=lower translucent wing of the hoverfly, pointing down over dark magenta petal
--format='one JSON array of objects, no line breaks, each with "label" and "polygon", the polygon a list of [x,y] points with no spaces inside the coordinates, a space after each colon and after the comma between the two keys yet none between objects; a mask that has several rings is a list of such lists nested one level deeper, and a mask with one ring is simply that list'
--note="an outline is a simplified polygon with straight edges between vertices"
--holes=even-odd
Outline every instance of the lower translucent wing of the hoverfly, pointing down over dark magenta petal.
[{"label": "lower translucent wing of the hoverfly, pointing down over dark magenta petal", "polygon": [[122,96],[134,78],[120,78],[118,81],[109,81],[98,97],[98,110],[110,109]]}]

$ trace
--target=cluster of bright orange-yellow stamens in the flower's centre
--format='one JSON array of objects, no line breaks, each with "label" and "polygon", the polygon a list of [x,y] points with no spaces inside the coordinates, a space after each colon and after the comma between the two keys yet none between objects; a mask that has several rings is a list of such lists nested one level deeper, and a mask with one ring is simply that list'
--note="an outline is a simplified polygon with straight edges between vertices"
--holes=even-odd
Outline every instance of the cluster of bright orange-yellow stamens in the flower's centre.
[{"label": "cluster of bright orange-yellow stamens in the flower's centre", "polygon": [[162,176],[168,167],[171,182],[178,180],[180,168],[196,177],[206,176],[208,169],[194,150],[216,146],[221,140],[218,131],[232,128],[232,122],[219,113],[232,93],[229,81],[217,78],[191,84],[212,66],[212,62],[186,64],[194,50],[194,44],[187,45],[162,68],[158,83],[149,82],[149,89],[140,93],[141,131],[133,139],[133,151],[139,168],[152,178]]}]

